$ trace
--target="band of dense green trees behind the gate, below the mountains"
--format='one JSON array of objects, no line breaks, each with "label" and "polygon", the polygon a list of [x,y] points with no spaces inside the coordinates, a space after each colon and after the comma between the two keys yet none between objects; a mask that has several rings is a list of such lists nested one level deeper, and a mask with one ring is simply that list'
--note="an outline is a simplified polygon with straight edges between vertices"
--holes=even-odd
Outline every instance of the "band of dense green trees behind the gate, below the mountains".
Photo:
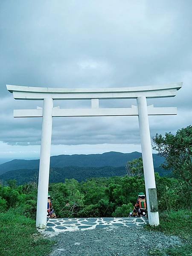
[{"label": "band of dense green trees behind the gate, below the mountains", "polygon": [[[156,174],[160,211],[189,208],[176,178]],[[128,216],[139,192],[145,192],[143,177],[93,178],[79,183],[66,179],[49,185],[53,207],[58,217]],[[35,218],[37,184],[0,185],[0,211],[17,207],[27,217]]]}]

